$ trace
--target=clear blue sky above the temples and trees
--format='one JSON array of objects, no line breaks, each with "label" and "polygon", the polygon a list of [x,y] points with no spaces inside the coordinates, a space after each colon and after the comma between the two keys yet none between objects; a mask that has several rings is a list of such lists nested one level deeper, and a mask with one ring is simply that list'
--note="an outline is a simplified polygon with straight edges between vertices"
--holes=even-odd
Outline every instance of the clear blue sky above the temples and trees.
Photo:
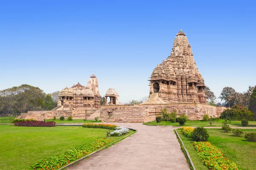
[{"label": "clear blue sky above the temples and trees", "polygon": [[0,90],[29,84],[46,93],[94,73],[103,96],[149,94],[148,77],[186,33],[205,84],[256,85],[256,3],[193,0],[1,0]]}]

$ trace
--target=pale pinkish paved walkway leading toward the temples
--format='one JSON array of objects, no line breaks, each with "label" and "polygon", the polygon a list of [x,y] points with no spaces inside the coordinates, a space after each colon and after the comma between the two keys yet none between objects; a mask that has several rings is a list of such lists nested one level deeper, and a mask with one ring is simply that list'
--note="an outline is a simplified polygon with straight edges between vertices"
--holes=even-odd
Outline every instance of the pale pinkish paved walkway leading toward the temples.
[{"label": "pale pinkish paved walkway leading toward the temples", "polygon": [[174,127],[115,124],[138,132],[68,170],[190,170]]}]

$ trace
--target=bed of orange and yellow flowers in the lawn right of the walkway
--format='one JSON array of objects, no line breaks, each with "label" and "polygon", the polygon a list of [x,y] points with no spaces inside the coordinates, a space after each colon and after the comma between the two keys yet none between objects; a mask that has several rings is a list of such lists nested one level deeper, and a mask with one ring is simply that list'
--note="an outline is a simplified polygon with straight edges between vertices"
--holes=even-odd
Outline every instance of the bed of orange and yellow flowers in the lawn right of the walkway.
[{"label": "bed of orange and yellow flowers in the lawn right of the walkway", "polygon": [[223,156],[221,151],[209,142],[194,142],[193,146],[210,170],[241,170],[237,164]]}]

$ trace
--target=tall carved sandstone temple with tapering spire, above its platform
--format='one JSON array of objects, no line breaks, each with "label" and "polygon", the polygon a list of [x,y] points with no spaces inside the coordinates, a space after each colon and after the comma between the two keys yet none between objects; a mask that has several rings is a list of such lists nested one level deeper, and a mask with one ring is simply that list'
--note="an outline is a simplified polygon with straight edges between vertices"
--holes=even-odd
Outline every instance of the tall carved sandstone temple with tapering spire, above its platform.
[{"label": "tall carved sandstone temple with tapering spire, above its platform", "polygon": [[207,103],[204,79],[181,29],[174,39],[171,55],[157,64],[148,81],[150,97],[145,103]]}]

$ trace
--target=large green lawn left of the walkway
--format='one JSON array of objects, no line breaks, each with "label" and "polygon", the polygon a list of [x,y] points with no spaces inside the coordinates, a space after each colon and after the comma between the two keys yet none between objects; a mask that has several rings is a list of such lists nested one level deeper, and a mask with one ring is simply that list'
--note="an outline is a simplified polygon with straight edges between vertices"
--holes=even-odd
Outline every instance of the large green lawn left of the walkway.
[{"label": "large green lawn left of the walkway", "polygon": [[[81,126],[17,127],[0,125],[0,169],[25,169],[45,157],[64,153],[71,147],[92,142],[94,139],[105,138],[106,131],[107,129]],[[134,131],[130,130],[131,133]],[[109,138],[117,141],[122,137],[110,136]]]}]

